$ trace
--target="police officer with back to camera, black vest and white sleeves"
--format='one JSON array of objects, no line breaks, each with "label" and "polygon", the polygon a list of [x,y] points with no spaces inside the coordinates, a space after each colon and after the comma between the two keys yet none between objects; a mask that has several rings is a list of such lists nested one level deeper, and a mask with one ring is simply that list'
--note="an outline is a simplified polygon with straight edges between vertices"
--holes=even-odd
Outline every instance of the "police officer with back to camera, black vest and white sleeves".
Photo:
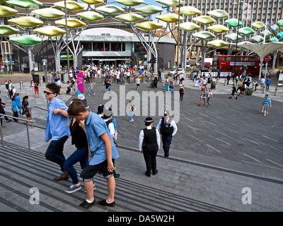
[{"label": "police officer with back to camera, black vest and white sleeves", "polygon": [[154,120],[151,117],[147,117],[145,122],[146,129],[142,129],[139,133],[139,152],[144,154],[144,160],[146,161],[146,176],[152,174],[158,174],[156,169],[156,155],[160,149],[160,135],[158,129],[152,127]]}]

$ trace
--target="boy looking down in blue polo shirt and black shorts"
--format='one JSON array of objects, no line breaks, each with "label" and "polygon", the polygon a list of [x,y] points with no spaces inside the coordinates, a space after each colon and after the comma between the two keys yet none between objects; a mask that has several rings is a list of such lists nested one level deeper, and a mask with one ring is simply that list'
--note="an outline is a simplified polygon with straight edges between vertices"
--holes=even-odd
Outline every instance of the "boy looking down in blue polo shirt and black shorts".
[{"label": "boy looking down in blue polo shirt and black shorts", "polygon": [[115,178],[114,160],[119,157],[115,144],[111,138],[105,121],[96,113],[86,109],[81,100],[73,101],[69,105],[68,114],[72,118],[85,120],[86,137],[88,138],[89,150],[91,152],[91,161],[81,172],[83,185],[86,189],[86,200],[79,206],[90,208],[96,203],[93,196],[92,178],[98,172],[102,172],[108,186],[108,198],[100,201],[101,206],[115,206]]}]

